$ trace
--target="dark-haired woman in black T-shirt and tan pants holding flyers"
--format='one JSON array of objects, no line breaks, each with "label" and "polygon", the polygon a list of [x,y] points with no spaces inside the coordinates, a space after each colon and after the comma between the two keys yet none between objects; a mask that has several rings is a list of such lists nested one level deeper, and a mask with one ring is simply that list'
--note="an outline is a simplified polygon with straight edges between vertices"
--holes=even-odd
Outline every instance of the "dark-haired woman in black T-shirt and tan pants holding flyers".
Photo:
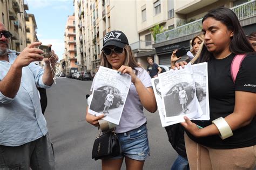
[{"label": "dark-haired woman in black T-shirt and tan pants holding flyers", "polygon": [[[191,169],[254,169],[256,166],[256,54],[235,13],[218,8],[202,21],[204,46],[197,60],[208,63],[210,120],[184,117]],[[242,43],[241,43],[242,42]],[[235,83],[231,63],[246,54]],[[179,63],[184,66],[184,63]],[[179,67],[178,67],[179,69]],[[197,125],[203,127],[199,128]]]}]

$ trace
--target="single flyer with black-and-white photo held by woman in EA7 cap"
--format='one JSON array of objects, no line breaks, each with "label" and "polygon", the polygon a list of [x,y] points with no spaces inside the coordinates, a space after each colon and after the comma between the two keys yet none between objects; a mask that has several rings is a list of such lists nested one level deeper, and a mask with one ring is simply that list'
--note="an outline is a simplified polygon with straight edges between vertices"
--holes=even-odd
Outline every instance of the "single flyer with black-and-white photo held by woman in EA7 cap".
[{"label": "single flyer with black-and-white photo held by woman in EA7 cap", "polygon": [[130,85],[129,74],[119,74],[116,70],[100,66],[94,80],[88,112],[105,114],[104,120],[118,125]]}]

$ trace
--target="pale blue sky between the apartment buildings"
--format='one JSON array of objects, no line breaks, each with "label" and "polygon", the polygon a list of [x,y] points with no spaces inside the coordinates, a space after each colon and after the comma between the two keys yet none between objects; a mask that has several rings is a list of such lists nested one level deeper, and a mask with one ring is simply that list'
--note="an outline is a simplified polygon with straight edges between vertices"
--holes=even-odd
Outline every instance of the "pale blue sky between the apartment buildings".
[{"label": "pale blue sky between the apartment buildings", "polygon": [[73,0],[25,0],[35,15],[37,38],[44,45],[52,44],[52,50],[63,58],[64,32],[68,16],[74,12]]}]

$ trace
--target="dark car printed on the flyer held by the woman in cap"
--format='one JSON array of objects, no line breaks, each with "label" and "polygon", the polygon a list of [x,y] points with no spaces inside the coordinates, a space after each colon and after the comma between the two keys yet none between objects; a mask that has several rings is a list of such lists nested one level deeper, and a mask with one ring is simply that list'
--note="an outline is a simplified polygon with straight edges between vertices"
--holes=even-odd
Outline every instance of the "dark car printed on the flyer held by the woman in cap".
[{"label": "dark car printed on the flyer held by the woman in cap", "polygon": [[114,95],[113,104],[110,108],[117,108],[122,104],[122,95],[117,88],[112,86],[102,86],[93,92],[93,98],[90,106],[91,110],[96,112],[104,110],[105,98],[107,94],[109,94],[110,90],[113,91]]}]

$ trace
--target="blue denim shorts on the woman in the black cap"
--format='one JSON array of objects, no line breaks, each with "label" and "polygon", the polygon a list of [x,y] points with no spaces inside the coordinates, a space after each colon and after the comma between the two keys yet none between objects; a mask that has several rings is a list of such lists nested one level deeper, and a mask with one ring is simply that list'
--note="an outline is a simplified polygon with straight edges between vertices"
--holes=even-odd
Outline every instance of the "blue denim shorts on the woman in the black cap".
[{"label": "blue denim shorts on the woman in the black cap", "polygon": [[111,159],[129,157],[134,160],[145,160],[150,154],[149,140],[147,139],[146,124],[125,132],[117,133],[122,153]]}]

